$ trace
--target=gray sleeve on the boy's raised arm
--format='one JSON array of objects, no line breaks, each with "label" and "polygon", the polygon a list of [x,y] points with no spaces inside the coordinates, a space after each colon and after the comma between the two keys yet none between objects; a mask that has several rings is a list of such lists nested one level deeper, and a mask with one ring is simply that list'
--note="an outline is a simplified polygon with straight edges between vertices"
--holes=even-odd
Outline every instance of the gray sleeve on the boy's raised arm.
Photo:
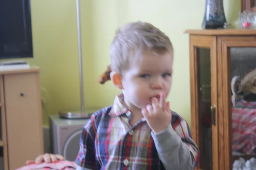
[{"label": "gray sleeve on the boy's raised arm", "polygon": [[[157,134],[151,132],[158,156],[166,170],[193,170],[195,168],[198,148],[189,135],[184,135],[186,133],[183,132],[182,125],[180,127],[182,131],[179,135],[177,134],[178,130],[174,131],[171,123],[162,132]],[[185,132],[187,129],[185,129]],[[184,137],[181,137],[182,135]]]}]

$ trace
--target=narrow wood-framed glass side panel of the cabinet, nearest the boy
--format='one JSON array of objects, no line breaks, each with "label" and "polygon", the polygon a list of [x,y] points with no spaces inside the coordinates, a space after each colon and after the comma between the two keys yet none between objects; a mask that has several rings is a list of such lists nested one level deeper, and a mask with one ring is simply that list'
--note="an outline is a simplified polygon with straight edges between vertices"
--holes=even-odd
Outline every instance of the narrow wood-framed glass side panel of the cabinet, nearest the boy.
[{"label": "narrow wood-framed glass side panel of the cabinet, nearest the boy", "polygon": [[216,57],[215,36],[190,35],[191,131],[201,170],[218,170]]}]

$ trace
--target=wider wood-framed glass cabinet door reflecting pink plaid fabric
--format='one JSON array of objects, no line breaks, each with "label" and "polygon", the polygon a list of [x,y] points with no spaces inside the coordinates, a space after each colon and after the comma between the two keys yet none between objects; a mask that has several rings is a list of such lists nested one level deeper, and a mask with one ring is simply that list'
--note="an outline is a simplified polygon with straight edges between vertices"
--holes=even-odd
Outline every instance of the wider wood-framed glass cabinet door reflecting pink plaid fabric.
[{"label": "wider wood-framed glass cabinet door reflecting pink plaid fabric", "polygon": [[[256,36],[221,37],[225,169],[256,167]],[[250,162],[250,163],[249,163]],[[253,169],[251,167],[251,169]]]}]

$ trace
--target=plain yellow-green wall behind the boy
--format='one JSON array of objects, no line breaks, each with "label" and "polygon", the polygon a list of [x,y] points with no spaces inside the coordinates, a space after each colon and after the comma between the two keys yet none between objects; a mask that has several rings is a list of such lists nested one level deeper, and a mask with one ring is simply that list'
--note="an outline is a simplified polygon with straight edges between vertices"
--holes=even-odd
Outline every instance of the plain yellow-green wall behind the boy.
[{"label": "plain yellow-green wall behind the boy", "polygon": [[[120,91],[99,75],[110,64],[115,30],[128,21],[159,27],[174,45],[174,75],[168,96],[173,111],[190,125],[189,39],[186,29],[201,28],[204,0],[80,0],[86,106],[111,105]],[[240,0],[224,0],[227,20],[237,20]],[[31,0],[34,58],[41,67],[43,124],[48,115],[80,107],[76,0]]]}]

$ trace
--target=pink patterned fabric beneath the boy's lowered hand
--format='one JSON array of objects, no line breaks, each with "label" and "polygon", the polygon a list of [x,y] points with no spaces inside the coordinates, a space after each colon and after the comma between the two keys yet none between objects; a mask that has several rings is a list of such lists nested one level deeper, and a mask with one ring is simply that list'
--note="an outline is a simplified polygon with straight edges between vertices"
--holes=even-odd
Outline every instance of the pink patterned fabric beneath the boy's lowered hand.
[{"label": "pink patterned fabric beneath the boy's lowered hand", "polygon": [[22,166],[16,170],[74,170],[77,165],[71,161],[58,161],[54,163],[40,163]]}]

